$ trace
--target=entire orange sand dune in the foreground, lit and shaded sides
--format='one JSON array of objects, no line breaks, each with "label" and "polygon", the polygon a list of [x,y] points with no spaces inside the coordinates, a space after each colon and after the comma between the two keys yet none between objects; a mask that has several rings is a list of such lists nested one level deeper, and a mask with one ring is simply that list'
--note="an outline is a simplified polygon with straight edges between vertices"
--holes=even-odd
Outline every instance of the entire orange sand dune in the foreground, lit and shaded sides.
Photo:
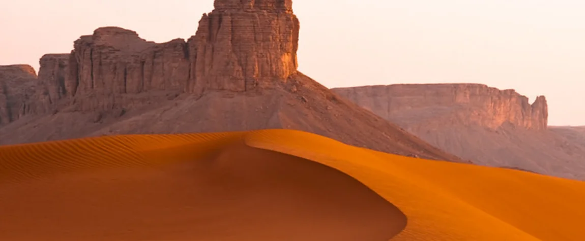
[{"label": "entire orange sand dune in the foreground, lit and shaded sides", "polygon": [[583,200],[581,181],[291,130],[0,146],[8,240],[577,241]]}]

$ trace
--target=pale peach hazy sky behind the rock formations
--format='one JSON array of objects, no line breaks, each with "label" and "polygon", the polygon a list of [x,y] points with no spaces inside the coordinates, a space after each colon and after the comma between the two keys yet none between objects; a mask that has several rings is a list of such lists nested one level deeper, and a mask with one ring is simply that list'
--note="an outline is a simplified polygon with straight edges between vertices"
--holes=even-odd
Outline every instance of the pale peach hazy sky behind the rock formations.
[{"label": "pale peach hazy sky behind the rock formations", "polygon": [[[101,26],[164,42],[195,34],[212,0],[1,0],[0,65],[38,68]],[[300,70],[329,88],[484,83],[549,100],[585,125],[583,0],[293,0]]]}]

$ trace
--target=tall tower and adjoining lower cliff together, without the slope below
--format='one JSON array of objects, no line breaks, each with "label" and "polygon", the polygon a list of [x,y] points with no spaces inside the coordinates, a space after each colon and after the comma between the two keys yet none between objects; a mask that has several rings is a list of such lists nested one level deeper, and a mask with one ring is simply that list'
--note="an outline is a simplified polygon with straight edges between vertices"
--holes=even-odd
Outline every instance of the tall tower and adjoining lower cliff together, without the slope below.
[{"label": "tall tower and adjoining lower cliff together, without the slope below", "polygon": [[105,103],[84,103],[80,109],[109,109],[128,107],[128,96],[116,97],[123,94],[243,92],[297,72],[299,22],[291,1],[218,0],[215,6],[187,42],[156,44],[119,27],[82,36],[64,70],[69,73],[64,85],[51,86],[51,96],[102,96]]}]

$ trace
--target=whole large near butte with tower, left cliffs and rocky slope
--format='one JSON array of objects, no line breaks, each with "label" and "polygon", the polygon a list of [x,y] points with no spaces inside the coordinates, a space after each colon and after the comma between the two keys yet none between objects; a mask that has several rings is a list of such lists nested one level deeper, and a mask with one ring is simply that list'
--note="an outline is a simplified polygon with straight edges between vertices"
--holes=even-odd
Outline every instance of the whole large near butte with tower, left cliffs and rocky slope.
[{"label": "whole large near butte with tower, left cliffs and rocky slope", "polygon": [[153,43],[101,27],[40,59],[23,88],[1,80],[0,144],[115,134],[287,128],[378,151],[459,158],[297,70],[291,0],[216,0],[194,36]]}]

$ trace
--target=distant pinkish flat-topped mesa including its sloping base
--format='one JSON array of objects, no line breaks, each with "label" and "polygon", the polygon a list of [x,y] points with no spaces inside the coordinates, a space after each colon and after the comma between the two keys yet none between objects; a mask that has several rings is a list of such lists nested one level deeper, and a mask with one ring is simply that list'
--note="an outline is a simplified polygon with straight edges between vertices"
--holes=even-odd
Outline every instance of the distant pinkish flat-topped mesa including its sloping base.
[{"label": "distant pinkish flat-topped mesa including its sloping base", "polygon": [[472,162],[585,179],[585,146],[548,125],[544,96],[477,84],[333,89],[432,145]]}]

